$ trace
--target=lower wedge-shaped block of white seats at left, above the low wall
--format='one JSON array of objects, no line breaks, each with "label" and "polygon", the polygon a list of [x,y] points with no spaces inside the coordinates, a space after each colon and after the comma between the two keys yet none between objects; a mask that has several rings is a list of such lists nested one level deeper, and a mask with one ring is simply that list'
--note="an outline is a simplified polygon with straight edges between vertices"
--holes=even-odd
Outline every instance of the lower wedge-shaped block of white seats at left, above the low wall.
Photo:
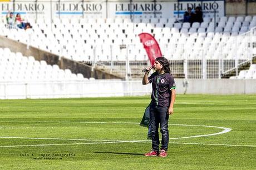
[{"label": "lower wedge-shaped block of white seats at left, above the low wall", "polygon": [[84,81],[83,75],[73,74],[70,69],[60,69],[34,57],[13,53],[9,48],[0,48],[1,81]]}]

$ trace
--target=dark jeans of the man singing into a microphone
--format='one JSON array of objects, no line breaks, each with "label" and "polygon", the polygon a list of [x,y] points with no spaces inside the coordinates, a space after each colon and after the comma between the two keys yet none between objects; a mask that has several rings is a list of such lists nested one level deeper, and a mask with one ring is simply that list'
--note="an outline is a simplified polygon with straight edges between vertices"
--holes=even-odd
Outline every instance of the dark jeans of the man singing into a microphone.
[{"label": "dark jeans of the man singing into a microphone", "polygon": [[152,149],[159,150],[159,133],[158,128],[160,124],[160,132],[162,134],[161,149],[168,150],[169,130],[168,130],[168,107],[159,107],[151,104],[150,106],[150,126],[152,136]]}]

